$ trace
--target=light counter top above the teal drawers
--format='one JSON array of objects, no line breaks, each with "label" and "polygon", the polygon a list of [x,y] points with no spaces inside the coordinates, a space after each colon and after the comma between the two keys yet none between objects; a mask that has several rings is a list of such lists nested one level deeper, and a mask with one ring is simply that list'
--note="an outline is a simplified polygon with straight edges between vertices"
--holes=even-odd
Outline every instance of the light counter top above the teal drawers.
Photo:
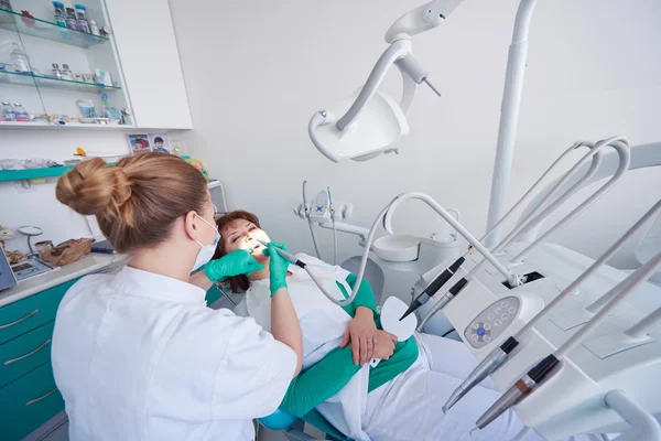
[{"label": "light counter top above the teal drawers", "polygon": [[123,265],[126,261],[127,257],[122,255],[90,252],[73,263],[31,277],[30,279],[20,281],[15,287],[0,291],[0,308],[47,290],[48,288],[66,283],[78,277],[93,272],[101,272],[100,270],[102,269]]}]

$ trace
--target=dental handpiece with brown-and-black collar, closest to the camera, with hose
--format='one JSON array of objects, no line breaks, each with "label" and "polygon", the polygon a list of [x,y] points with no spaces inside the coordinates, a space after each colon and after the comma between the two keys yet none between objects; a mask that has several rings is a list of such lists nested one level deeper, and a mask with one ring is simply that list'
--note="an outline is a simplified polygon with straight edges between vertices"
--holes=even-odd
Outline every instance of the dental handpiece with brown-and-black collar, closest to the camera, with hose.
[{"label": "dental handpiece with brown-and-black collar, closest to the camera, with hose", "polygon": [[512,387],[510,387],[478,420],[477,428],[484,429],[491,421],[502,415],[511,407],[521,402],[528,395],[539,387],[549,374],[551,376],[557,372],[555,367],[560,361],[566,356],[574,347],[581,344],[587,335],[596,330],[613,311],[625,301],[625,299],[649,279],[657,269],[661,267],[661,252],[650,259],[647,263],[638,268],[633,273],[615,286],[605,295],[611,300],[595,315],[585,326],[567,340],[554,354],[546,356],[535,367],[530,369],[527,375],[521,377]]}]

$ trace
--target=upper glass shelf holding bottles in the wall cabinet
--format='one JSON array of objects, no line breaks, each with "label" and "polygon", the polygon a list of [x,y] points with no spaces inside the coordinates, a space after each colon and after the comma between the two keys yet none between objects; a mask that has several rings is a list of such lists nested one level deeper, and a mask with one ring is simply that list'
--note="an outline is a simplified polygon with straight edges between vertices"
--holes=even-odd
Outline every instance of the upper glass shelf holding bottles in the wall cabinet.
[{"label": "upper glass shelf holding bottles in the wall cabinet", "polygon": [[32,35],[39,39],[78,47],[89,47],[95,44],[108,42],[108,39],[105,36],[59,26],[57,23],[24,17],[18,12],[8,11],[7,9],[0,9],[0,29],[12,32],[18,31],[20,34]]}]

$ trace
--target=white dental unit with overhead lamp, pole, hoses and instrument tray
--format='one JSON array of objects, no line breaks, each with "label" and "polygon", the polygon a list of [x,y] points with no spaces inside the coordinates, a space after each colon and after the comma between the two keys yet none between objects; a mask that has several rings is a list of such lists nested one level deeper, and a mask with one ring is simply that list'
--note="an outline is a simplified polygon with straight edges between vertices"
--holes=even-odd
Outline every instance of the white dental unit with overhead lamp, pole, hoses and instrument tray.
[{"label": "white dental unit with overhead lamp, pole, hoses and instrument tray", "polygon": [[[407,112],[416,86],[425,83],[437,93],[412,55],[412,36],[438,26],[459,3],[460,0],[431,1],[393,23],[386,33],[388,47],[365,85],[312,116],[308,135],[324,157],[334,162],[367,161],[382,153],[399,153],[397,141],[409,133]],[[619,136],[598,142],[578,141],[509,211],[506,208],[535,4],[535,0],[520,1],[514,21],[487,228],[479,240],[462,227],[458,215],[453,218],[449,209],[422,193],[400,194],[381,211],[369,230],[345,222],[348,215],[344,213],[353,209],[350,204],[347,209],[335,211],[332,218],[315,218],[304,200],[296,213],[307,218],[311,228],[314,223],[332,229],[335,220],[336,232],[358,235],[365,247],[361,267],[371,251],[384,268],[420,275],[412,302],[401,319],[415,312],[422,318],[418,331],[427,332],[438,322],[456,330],[478,361],[478,366],[448,397],[443,411],[490,376],[503,396],[480,418],[478,428],[516,406],[530,430],[549,441],[584,432],[619,433],[619,441],[661,440],[661,399],[650,392],[646,380],[661,374],[661,286],[647,281],[654,273],[661,280],[659,248],[653,248],[661,241],[650,240],[646,260],[630,276],[607,265],[654,218],[654,225],[661,225],[661,201],[657,198],[635,225],[594,259],[550,243],[602,201],[627,172],[660,166],[661,143],[630,147]],[[393,65],[402,76],[399,101],[379,90]],[[542,190],[542,182],[557,170],[560,162],[584,147],[589,151]],[[567,206],[572,196],[602,180],[579,204],[566,209],[568,214],[539,234],[545,220]],[[414,198],[430,205],[473,248],[446,256],[434,252],[440,245],[433,240],[395,235],[391,225],[394,211]],[[513,227],[506,229],[521,209]],[[311,215],[305,216],[306,213]],[[375,240],[380,222],[388,235]],[[387,244],[392,247],[383,248]],[[391,258],[393,255],[398,258]],[[449,290],[441,292],[448,283]],[[443,313],[438,314],[441,310]],[[533,390],[537,391],[532,394]]]}]

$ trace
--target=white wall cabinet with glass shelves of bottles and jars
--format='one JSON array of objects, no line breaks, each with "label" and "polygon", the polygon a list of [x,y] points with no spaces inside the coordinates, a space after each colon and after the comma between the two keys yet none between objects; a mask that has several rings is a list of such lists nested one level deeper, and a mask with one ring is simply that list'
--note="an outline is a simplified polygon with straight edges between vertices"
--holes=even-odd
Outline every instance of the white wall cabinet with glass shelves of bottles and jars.
[{"label": "white wall cabinet with glass shelves of bottles and jars", "polygon": [[56,3],[0,0],[0,126],[192,128],[167,0]]}]

